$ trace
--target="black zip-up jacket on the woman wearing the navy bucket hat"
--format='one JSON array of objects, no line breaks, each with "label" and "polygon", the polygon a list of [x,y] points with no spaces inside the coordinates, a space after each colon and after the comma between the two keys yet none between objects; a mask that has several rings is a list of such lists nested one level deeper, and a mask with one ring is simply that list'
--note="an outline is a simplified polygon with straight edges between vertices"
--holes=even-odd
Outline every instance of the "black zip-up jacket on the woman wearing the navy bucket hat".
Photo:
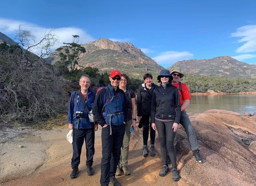
[{"label": "black zip-up jacket on the woman wearing the navy bucket hat", "polygon": [[151,123],[155,123],[155,117],[159,119],[173,119],[175,123],[180,123],[181,102],[177,87],[168,83],[165,89],[160,86],[153,92]]}]

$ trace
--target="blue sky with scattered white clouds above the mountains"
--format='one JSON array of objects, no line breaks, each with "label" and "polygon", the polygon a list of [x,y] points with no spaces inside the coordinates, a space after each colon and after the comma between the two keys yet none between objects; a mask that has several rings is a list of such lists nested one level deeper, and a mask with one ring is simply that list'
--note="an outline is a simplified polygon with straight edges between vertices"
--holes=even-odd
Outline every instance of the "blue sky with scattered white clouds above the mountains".
[{"label": "blue sky with scattered white clouds above the mountains", "polygon": [[159,65],[185,59],[231,56],[256,64],[256,1],[3,1],[0,32],[13,38],[17,26],[40,37],[54,28],[60,41],[79,35],[131,42]]}]

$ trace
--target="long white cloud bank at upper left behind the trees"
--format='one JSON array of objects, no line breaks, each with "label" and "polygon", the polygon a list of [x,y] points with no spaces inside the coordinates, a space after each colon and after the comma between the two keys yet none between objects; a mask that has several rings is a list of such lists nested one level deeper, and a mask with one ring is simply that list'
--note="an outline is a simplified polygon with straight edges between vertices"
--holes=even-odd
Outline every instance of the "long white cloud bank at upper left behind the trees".
[{"label": "long white cloud bank at upper left behind the trees", "polygon": [[[22,29],[31,31],[37,38],[43,37],[46,29],[47,31],[50,31],[52,29],[26,21],[5,19],[0,17],[0,30],[6,35],[15,34],[20,24],[22,24]],[[85,44],[87,42],[95,40],[85,30],[76,27],[55,28],[51,33],[55,34],[59,38],[59,42],[56,43],[54,46],[55,49],[63,45],[63,42],[72,42],[72,35],[79,35],[79,43],[81,44]]]}]

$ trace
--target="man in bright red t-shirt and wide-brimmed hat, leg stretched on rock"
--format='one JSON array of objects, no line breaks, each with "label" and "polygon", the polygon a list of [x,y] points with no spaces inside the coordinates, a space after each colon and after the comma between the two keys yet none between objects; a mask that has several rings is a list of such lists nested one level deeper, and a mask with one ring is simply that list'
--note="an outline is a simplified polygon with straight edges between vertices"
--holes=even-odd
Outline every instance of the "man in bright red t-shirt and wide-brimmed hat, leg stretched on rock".
[{"label": "man in bright red t-shirt and wide-brimmed hat, leg stretched on rock", "polygon": [[193,151],[193,157],[195,158],[195,161],[198,163],[202,163],[203,159],[200,156],[199,148],[198,148],[198,141],[196,138],[195,131],[191,125],[191,122],[186,114],[185,108],[189,105],[190,100],[190,93],[187,88],[187,86],[184,83],[179,82],[180,78],[184,76],[183,73],[181,73],[181,70],[178,68],[172,68],[171,69],[171,75],[173,77],[172,85],[177,87],[179,89],[180,93],[180,100],[181,100],[181,119],[180,124],[185,128],[185,132],[187,133],[187,138],[189,141],[189,144]]}]

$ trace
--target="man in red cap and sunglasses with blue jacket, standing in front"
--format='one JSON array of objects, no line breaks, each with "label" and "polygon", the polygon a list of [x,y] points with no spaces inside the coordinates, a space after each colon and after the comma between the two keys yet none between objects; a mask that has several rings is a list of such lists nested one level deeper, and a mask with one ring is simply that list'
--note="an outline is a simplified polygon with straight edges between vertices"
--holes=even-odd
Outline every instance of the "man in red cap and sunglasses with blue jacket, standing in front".
[{"label": "man in red cap and sunglasses with blue jacket, standing in front", "polygon": [[102,126],[101,143],[101,176],[100,185],[121,186],[115,178],[116,168],[120,161],[121,147],[128,118],[128,104],[125,92],[119,89],[121,72],[110,73],[107,87],[97,91],[93,104],[95,120]]}]

